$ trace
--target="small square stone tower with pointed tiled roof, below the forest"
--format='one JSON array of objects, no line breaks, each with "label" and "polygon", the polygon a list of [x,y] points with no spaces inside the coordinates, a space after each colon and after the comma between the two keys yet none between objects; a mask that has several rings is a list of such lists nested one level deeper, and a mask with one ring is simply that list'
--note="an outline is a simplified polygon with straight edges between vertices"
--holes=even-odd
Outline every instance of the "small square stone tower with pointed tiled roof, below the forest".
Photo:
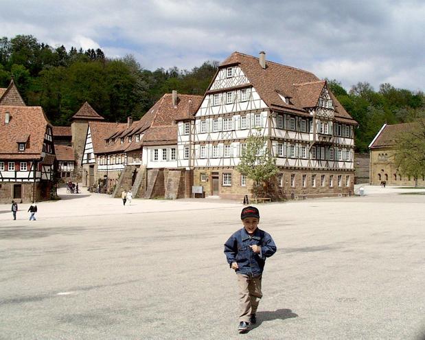
[{"label": "small square stone tower with pointed tiled roof, below the forest", "polygon": [[89,122],[104,120],[88,102],[82,104],[80,110],[71,117],[71,146],[75,155],[76,166],[73,170],[74,181],[80,182],[82,179],[82,155],[84,154],[84,144],[86,142]]}]

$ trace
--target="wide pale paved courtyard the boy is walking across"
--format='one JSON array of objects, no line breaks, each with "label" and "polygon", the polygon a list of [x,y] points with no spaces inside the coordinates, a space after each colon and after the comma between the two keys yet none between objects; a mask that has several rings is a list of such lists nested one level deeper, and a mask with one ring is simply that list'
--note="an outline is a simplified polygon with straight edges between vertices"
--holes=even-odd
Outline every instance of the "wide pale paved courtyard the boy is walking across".
[{"label": "wide pale paved courtyard the boy is walking across", "polygon": [[425,195],[365,190],[259,205],[278,250],[245,335],[222,253],[240,203],[83,192],[32,222],[0,205],[0,339],[420,339]]}]

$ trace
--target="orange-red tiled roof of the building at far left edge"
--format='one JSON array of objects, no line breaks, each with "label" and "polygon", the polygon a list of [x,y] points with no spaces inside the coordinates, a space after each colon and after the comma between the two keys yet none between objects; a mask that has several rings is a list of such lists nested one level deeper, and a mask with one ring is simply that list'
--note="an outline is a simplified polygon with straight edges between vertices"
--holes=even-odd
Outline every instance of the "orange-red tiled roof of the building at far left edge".
[{"label": "orange-red tiled roof of the building at far left edge", "polygon": [[[10,115],[8,124],[6,113]],[[51,125],[41,106],[0,105],[0,159],[40,158],[47,126]],[[17,142],[23,137],[27,137],[27,145],[19,152]]]}]

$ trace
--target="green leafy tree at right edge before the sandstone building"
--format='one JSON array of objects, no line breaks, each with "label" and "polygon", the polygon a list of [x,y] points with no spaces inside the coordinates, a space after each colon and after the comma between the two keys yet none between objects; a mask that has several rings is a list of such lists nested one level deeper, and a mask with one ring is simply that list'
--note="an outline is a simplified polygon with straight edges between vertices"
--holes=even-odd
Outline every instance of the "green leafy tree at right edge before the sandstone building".
[{"label": "green leafy tree at right edge before the sandstone building", "polygon": [[396,139],[394,161],[398,171],[415,179],[425,175],[425,120],[417,120]]}]

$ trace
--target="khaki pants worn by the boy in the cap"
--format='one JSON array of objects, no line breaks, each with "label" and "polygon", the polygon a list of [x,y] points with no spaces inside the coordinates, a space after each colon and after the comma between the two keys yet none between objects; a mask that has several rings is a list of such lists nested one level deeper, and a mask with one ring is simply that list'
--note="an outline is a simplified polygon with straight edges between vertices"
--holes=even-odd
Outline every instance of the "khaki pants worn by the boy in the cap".
[{"label": "khaki pants worn by the boy in the cap", "polygon": [[249,277],[248,275],[238,274],[239,286],[239,321],[249,322],[250,315],[257,313],[258,303],[262,298],[261,277]]}]

